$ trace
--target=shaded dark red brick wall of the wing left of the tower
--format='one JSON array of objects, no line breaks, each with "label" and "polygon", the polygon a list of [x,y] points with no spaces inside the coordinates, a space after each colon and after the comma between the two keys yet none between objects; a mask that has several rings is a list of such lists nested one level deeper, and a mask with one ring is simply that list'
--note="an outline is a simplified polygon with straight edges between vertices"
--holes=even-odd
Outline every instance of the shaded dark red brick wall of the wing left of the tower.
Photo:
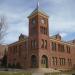
[{"label": "shaded dark red brick wall of the wing left of the tower", "polygon": [[[14,47],[17,47],[16,52],[14,52]],[[21,48],[20,48],[21,47]],[[20,54],[19,54],[20,53]],[[14,60],[15,59],[15,60]],[[27,68],[27,48],[25,48],[25,41],[17,42],[9,45],[8,48],[8,64],[20,63],[22,68]]]}]

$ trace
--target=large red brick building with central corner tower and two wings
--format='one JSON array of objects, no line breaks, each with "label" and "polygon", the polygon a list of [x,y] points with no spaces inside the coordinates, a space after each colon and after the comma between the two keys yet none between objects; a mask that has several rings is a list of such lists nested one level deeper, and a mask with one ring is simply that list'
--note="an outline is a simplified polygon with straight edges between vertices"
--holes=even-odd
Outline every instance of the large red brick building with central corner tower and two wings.
[{"label": "large red brick building with central corner tower and two wings", "polygon": [[29,36],[8,45],[8,66],[21,68],[72,69],[75,65],[75,40],[62,41],[59,34],[49,36],[49,16],[38,6],[28,16]]}]

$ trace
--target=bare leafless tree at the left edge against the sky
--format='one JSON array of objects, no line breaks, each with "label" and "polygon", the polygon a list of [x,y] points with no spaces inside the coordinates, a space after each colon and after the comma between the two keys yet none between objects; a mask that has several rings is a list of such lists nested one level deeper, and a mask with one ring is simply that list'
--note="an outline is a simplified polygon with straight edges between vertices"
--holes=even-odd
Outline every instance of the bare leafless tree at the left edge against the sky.
[{"label": "bare leafless tree at the left edge against the sky", "polygon": [[3,43],[4,37],[6,35],[6,30],[7,30],[7,26],[5,22],[5,17],[1,16],[0,17],[0,44]]}]

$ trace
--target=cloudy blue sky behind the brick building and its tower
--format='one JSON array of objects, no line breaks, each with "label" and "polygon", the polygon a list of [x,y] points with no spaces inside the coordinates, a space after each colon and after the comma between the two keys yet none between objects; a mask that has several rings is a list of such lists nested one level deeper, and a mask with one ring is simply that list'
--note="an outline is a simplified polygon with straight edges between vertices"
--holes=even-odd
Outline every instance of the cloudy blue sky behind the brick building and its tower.
[{"label": "cloudy blue sky behind the brick building and its tower", "polygon": [[[28,16],[38,0],[0,0],[0,16],[8,25],[4,43],[18,40],[20,34],[28,36]],[[50,36],[60,34],[63,40],[75,39],[75,0],[39,0],[39,7],[49,15]]]}]

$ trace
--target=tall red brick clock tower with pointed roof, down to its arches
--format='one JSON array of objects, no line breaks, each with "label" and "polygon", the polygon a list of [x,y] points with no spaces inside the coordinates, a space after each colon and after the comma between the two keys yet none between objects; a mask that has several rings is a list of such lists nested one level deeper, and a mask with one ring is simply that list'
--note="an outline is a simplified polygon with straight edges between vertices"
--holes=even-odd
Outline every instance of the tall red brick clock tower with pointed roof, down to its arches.
[{"label": "tall red brick clock tower with pointed roof, down to its arches", "polygon": [[50,40],[48,15],[39,8],[28,16],[29,18],[29,48],[28,65],[29,68],[49,68],[50,67]]}]

